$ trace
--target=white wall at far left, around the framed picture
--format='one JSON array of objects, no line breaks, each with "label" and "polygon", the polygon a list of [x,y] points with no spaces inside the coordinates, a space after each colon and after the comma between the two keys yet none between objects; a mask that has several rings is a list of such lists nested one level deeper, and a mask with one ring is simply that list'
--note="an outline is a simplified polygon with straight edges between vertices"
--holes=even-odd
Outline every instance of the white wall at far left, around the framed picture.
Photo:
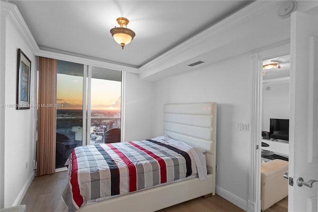
[{"label": "white wall at far left, around the framed picture", "polygon": [[4,89],[4,103],[2,102],[3,97],[1,97],[1,104],[5,108],[4,126],[1,125],[0,129],[1,135],[4,134],[4,137],[1,136],[1,143],[4,143],[1,146],[4,147],[4,150],[1,149],[1,154],[4,153],[4,157],[1,156],[1,160],[4,160],[4,167],[1,166],[1,177],[4,178],[4,185],[1,183],[1,187],[4,187],[3,200],[1,200],[4,203],[1,203],[1,207],[10,207],[20,203],[34,177],[32,163],[35,146],[36,109],[17,110],[15,107],[8,107],[16,104],[17,50],[20,48],[31,60],[31,104],[36,102],[36,58],[9,18],[6,18],[5,24],[1,22],[2,30],[5,33],[5,46],[1,46],[1,48],[5,48],[5,55],[1,54],[1,63],[5,63],[5,69],[1,70],[1,78],[4,77],[5,82],[4,85],[1,85],[1,89]]}]

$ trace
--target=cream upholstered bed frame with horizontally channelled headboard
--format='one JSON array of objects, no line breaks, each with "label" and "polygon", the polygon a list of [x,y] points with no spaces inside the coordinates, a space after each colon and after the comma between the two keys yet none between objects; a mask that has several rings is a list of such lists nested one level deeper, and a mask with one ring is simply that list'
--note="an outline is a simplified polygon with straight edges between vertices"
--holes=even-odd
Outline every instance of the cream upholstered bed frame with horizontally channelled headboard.
[{"label": "cream upholstered bed frame with horizontally channelled headboard", "polygon": [[83,206],[78,212],[150,212],[201,196],[215,195],[216,114],[216,103],[164,105],[163,134],[206,151],[206,180],[191,178],[139,191]]}]

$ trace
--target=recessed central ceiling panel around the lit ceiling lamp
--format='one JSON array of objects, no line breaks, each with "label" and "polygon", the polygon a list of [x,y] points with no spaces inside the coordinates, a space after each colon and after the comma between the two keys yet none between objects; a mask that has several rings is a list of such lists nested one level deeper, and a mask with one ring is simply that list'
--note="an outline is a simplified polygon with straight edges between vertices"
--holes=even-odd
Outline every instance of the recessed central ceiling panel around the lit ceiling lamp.
[{"label": "recessed central ceiling panel around the lit ceiling lamp", "polygon": [[[140,68],[252,1],[8,0],[17,5],[41,50]],[[130,20],[124,50],[109,30]]]}]

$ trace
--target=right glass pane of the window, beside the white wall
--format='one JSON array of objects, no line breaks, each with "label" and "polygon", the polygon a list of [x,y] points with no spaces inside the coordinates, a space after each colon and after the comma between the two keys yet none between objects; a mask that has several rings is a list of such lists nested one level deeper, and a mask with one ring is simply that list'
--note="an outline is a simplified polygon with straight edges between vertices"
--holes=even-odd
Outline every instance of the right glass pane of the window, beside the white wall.
[{"label": "right glass pane of the window, beside the white wall", "polygon": [[120,141],[121,79],[121,71],[91,67],[88,83],[91,144]]}]

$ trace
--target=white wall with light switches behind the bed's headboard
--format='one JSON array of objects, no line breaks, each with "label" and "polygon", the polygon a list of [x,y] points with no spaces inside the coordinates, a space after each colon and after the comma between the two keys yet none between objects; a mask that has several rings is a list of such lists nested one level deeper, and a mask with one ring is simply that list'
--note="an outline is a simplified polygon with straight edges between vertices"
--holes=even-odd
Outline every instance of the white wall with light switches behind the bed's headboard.
[{"label": "white wall with light switches behind the bed's headboard", "polygon": [[217,102],[217,193],[244,210],[248,199],[249,132],[235,130],[235,123],[250,120],[249,61],[249,55],[240,55],[161,80],[156,83],[154,107],[154,136],[158,136],[162,134],[164,104]]}]

